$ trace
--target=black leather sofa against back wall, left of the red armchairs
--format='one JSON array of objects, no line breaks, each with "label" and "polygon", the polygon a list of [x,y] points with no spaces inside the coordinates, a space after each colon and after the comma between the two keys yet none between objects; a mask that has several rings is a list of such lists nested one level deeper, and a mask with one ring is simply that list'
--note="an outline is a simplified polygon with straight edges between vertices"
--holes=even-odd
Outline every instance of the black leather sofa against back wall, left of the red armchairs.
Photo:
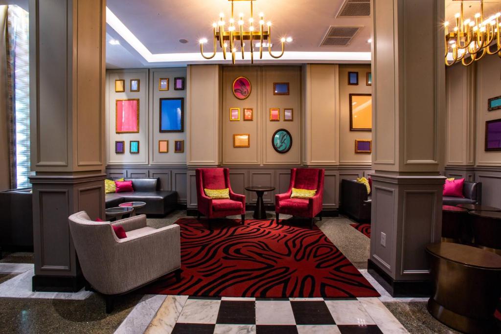
[{"label": "black leather sofa against back wall, left of the red armchairs", "polygon": [[124,178],[124,181],[132,181],[134,191],[106,194],[106,208],[124,202],[145,202],[146,205],[136,213],[158,215],[165,215],[176,208],[177,192],[159,190],[160,182],[157,177]]}]

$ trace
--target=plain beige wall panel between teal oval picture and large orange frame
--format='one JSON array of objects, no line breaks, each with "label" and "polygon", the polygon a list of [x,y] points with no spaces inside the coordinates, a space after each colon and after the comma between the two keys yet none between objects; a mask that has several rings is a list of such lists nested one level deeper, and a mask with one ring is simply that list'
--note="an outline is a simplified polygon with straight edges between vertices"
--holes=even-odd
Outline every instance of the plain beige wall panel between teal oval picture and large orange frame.
[{"label": "plain beige wall panel between teal oval picture and large orange frame", "polygon": [[312,64],[307,78],[307,163],[339,164],[339,66]]}]

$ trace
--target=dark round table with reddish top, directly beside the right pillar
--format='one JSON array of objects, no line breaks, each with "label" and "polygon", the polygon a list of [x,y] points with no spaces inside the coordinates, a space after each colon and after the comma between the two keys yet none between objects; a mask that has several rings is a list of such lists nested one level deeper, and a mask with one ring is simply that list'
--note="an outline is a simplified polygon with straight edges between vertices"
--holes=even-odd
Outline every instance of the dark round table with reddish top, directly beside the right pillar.
[{"label": "dark round table with reddish top, directly beside the right pillar", "polygon": [[467,239],[467,220],[468,210],[452,205],[442,205],[442,241],[460,242]]}]

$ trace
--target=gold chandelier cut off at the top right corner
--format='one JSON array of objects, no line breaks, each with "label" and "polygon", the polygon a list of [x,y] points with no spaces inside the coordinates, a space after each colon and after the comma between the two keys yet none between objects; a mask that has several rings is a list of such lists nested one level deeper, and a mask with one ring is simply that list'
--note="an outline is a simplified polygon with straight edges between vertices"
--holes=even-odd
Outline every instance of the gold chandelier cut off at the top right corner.
[{"label": "gold chandelier cut off at the top right corner", "polygon": [[[483,56],[497,53],[501,57],[501,13],[496,13],[484,20],[483,0],[480,0],[480,12],[474,18],[464,19],[463,0],[461,11],[455,15],[456,26],[449,33],[449,23],[445,22],[445,65],[461,62],[469,66]],[[452,61],[447,59],[452,54]]]}]

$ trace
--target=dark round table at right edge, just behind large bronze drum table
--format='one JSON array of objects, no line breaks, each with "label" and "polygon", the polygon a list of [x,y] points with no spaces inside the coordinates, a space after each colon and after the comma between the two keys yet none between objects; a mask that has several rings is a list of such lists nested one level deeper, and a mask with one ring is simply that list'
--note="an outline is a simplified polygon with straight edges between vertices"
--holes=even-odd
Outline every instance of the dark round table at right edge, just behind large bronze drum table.
[{"label": "dark round table at right edge, just behind large bronze drum table", "polygon": [[501,212],[470,211],[474,244],[501,255]]}]

